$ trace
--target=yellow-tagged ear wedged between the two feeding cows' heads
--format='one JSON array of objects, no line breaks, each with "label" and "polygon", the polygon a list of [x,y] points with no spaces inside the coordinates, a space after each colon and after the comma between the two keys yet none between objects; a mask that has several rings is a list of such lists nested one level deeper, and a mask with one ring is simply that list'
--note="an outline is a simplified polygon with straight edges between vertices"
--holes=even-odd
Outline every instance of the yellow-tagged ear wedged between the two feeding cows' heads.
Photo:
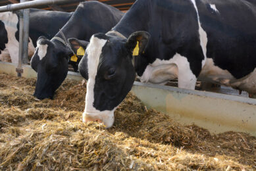
[{"label": "yellow-tagged ear wedged between the two feeding cows' heads", "polygon": [[[70,38],[70,39],[68,39],[68,44],[69,44],[71,50],[73,51],[73,53],[75,55],[82,55],[82,53],[80,54],[80,52],[84,51],[86,49],[86,47],[88,46],[89,42],[88,41],[79,40],[79,39],[76,39],[76,38]],[[81,49],[81,47],[82,47],[82,50],[79,51],[78,49]]]}]

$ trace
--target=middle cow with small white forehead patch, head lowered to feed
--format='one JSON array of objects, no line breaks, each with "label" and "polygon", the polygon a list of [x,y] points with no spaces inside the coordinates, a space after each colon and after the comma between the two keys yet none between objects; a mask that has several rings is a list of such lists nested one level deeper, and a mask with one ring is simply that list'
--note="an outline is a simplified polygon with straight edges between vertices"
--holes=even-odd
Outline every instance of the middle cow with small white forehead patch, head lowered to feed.
[{"label": "middle cow with small white forehead patch, head lowered to feed", "polygon": [[[97,32],[105,33],[113,28],[122,18],[122,15],[123,13],[118,9],[97,1],[80,3],[73,16],[53,39],[39,37],[38,46],[31,61],[32,68],[38,72],[34,95],[38,99],[52,99],[55,90],[66,78],[68,61],[73,52],[68,47],[64,37],[66,39],[75,37],[88,41],[93,34]],[[75,39],[69,39],[69,41],[71,45],[76,43]],[[72,47],[76,48],[76,46]],[[72,50],[74,53],[78,52]],[[82,56],[84,56],[84,53],[82,53]],[[80,61],[77,56],[74,58],[76,59],[75,62]]]}]

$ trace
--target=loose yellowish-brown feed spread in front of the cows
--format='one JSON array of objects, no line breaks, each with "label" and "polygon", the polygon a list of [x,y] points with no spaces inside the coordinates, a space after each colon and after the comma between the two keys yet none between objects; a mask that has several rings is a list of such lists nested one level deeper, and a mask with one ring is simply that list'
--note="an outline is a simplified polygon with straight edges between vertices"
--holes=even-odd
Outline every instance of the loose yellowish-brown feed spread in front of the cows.
[{"label": "loose yellowish-brown feed spread in front of the cows", "polygon": [[183,126],[132,95],[106,130],[81,121],[85,84],[66,80],[53,101],[35,84],[0,74],[0,170],[256,170],[256,137]]}]

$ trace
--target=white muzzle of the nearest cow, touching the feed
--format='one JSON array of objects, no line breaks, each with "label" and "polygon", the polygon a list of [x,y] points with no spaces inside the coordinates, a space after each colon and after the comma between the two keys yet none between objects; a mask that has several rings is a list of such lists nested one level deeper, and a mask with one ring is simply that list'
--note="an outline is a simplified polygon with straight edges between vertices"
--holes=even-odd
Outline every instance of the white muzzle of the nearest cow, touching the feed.
[{"label": "white muzzle of the nearest cow, touching the feed", "polygon": [[111,128],[113,126],[115,117],[114,117],[114,110],[105,110],[102,112],[87,112],[86,110],[83,113],[83,122],[99,122],[103,123],[106,128]]}]

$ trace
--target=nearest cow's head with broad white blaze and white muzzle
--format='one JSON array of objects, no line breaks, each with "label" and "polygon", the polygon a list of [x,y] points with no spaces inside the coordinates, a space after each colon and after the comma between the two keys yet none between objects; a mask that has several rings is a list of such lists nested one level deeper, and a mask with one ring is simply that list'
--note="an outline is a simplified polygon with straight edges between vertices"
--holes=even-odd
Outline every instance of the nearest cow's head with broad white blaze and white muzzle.
[{"label": "nearest cow's head with broad white blaze and white muzzle", "polygon": [[133,51],[139,47],[137,55],[143,53],[149,37],[147,32],[135,32],[128,39],[106,34],[91,37],[78,66],[88,80],[83,122],[98,121],[107,128],[113,126],[114,111],[136,78]]}]

